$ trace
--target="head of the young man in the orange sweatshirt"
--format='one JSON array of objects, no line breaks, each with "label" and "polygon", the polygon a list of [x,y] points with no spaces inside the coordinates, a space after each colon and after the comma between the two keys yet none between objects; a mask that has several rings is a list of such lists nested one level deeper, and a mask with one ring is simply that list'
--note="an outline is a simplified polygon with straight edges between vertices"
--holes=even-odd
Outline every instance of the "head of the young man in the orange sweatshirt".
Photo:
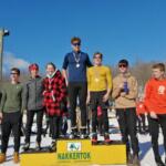
[{"label": "head of the young man in the orange sweatshirt", "polygon": [[165,65],[164,63],[156,63],[152,68],[153,70],[153,76],[157,80],[160,80],[165,75]]}]

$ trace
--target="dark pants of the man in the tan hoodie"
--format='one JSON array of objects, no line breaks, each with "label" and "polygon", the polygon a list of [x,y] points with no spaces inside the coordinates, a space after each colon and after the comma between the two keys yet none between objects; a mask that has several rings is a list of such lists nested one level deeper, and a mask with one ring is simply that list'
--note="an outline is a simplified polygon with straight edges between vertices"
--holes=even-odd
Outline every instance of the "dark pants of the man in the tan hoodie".
[{"label": "dark pants of the man in the tan hoodie", "polygon": [[122,141],[126,144],[127,153],[129,149],[129,141],[134,155],[138,155],[138,141],[136,137],[136,111],[135,107],[131,108],[116,108],[116,116],[120,125],[120,129],[122,133]]}]

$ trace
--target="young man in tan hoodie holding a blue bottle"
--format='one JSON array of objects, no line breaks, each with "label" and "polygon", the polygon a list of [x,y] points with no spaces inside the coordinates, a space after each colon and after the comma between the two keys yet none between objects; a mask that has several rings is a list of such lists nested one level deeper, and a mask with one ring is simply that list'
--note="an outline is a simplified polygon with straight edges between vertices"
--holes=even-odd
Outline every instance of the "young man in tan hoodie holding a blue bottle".
[{"label": "young man in tan hoodie holding a blue bottle", "polygon": [[[136,97],[137,81],[128,72],[128,61],[118,62],[120,74],[113,79],[113,93],[115,100],[116,116],[122,133],[122,141],[126,144],[128,164],[139,165],[138,141],[136,137]],[[129,139],[133,149],[133,158],[129,149]]]}]

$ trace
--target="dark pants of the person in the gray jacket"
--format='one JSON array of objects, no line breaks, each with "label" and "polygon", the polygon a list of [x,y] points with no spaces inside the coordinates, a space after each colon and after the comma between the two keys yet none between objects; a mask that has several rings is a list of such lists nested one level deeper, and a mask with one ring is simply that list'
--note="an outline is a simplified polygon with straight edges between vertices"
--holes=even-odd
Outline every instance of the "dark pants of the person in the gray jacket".
[{"label": "dark pants of the person in the gray jacket", "polygon": [[41,142],[42,135],[42,121],[43,121],[43,110],[38,111],[27,111],[27,125],[25,125],[25,143],[30,143],[31,128],[33,124],[34,114],[37,114],[37,142]]}]

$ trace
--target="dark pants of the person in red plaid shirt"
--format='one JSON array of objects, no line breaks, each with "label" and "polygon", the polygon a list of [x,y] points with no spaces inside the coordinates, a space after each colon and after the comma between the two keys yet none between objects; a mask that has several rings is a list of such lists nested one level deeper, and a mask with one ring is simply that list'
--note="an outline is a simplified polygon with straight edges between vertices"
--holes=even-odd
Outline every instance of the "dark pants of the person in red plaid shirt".
[{"label": "dark pants of the person in red plaid shirt", "polygon": [[60,125],[61,125],[61,116],[49,116],[49,123],[50,123],[50,133],[52,136],[52,139],[58,139],[60,136]]}]

